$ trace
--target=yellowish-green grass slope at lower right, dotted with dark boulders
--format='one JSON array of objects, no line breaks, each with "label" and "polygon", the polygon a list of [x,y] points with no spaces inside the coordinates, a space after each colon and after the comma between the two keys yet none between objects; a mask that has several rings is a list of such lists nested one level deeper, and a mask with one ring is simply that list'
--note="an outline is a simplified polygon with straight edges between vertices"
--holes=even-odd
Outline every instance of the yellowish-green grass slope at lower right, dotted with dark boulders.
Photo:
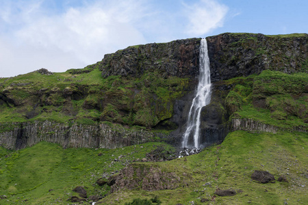
[{"label": "yellowish-green grass slope at lower right, dotted with dark boulders", "polygon": [[[200,154],[155,163],[169,172],[180,173],[188,186],[160,191],[124,190],[108,195],[102,202],[124,204],[140,196],[150,200],[157,195],[162,204],[192,201],[203,204],[202,198],[213,199],[211,204],[306,204],[307,143],[307,134],[303,133],[229,133],[222,144],[206,148]],[[276,179],[285,175],[289,182],[261,184],[252,181],[255,169],[267,170]],[[216,189],[242,192],[214,199]]]}]

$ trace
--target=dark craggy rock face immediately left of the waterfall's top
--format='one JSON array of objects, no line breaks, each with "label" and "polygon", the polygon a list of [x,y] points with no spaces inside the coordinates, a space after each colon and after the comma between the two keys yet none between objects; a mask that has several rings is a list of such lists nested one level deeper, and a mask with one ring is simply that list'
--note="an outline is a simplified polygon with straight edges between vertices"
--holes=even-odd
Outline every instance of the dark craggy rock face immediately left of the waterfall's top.
[{"label": "dark craggy rock face immediately left of the waterfall's top", "polygon": [[101,61],[103,77],[110,75],[142,75],[159,70],[165,77],[195,77],[198,75],[200,38],[175,40],[164,44],[129,46],[107,54]]}]

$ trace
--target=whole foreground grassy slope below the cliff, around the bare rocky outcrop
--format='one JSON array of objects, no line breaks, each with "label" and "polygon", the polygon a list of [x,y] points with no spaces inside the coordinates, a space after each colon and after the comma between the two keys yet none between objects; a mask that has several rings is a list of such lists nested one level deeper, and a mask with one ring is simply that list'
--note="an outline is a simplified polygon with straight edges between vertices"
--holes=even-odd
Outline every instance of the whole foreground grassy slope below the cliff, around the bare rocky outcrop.
[{"label": "whole foreground grassy slope below the cliff, around the bare rocky outcrop", "polygon": [[[101,202],[125,204],[134,198],[150,199],[157,195],[163,204],[188,204],[191,201],[202,204],[201,198],[211,200],[219,188],[243,192],[232,197],[216,197],[212,204],[283,204],[284,200],[289,204],[306,204],[307,143],[305,133],[229,133],[222,144],[206,148],[200,154],[161,163],[146,162],[189,178],[188,186],[181,184],[178,189],[162,191],[120,191]],[[87,187],[88,196],[104,195],[110,188],[95,184],[103,172],[119,170],[124,167],[123,162],[131,161],[133,157],[141,159],[154,149],[154,145],[158,143],[116,150],[63,150],[57,144],[41,142],[16,152],[1,148],[0,193],[8,198],[0,202],[21,204],[28,200],[23,204],[69,204],[66,200],[76,195],[72,190],[77,185]],[[103,155],[98,156],[99,152]],[[7,154],[10,156],[5,157]],[[126,155],[122,162],[114,162],[120,154]],[[289,183],[254,182],[250,177],[255,169],[267,170],[276,179],[285,175]],[[211,186],[204,186],[206,182]]]}]

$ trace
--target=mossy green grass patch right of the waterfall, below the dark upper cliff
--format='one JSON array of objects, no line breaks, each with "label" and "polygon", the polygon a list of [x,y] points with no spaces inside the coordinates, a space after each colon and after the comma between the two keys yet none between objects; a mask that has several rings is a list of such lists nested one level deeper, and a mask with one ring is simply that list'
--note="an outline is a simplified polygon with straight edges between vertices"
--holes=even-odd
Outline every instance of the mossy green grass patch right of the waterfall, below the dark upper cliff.
[{"label": "mossy green grass patch right of the waterfall, below the dark upper cliff", "polygon": [[[226,98],[233,118],[250,118],[283,130],[297,126],[307,130],[308,74],[264,70],[259,75],[226,81],[234,85]],[[261,100],[261,105],[258,104]]]}]

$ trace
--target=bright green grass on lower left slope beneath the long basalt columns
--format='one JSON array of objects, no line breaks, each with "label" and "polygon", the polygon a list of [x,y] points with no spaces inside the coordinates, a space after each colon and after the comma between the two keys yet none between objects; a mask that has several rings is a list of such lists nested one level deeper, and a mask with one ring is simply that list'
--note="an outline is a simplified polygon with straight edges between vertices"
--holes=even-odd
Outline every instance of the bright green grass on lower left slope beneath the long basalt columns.
[{"label": "bright green grass on lower left slope beneath the long basalt columns", "polygon": [[47,142],[14,152],[0,148],[0,193],[8,197],[0,200],[0,204],[69,204],[66,200],[76,195],[72,190],[78,185],[87,187],[88,196],[105,195],[110,188],[95,183],[103,173],[116,172],[125,167],[127,161],[142,159],[157,146],[170,150],[164,143],[115,150],[64,150]]}]

